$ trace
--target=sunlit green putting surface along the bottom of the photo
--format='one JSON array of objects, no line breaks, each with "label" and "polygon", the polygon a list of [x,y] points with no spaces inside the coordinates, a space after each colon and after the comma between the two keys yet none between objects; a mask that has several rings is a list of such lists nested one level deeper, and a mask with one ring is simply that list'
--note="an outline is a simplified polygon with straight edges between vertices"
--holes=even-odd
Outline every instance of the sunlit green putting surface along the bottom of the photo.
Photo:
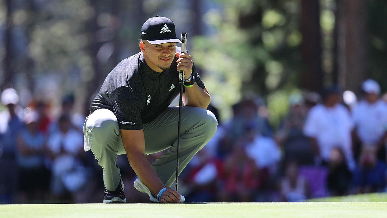
[{"label": "sunlit green putting surface along the bottom of the photo", "polygon": [[[343,202],[348,200],[348,202]],[[375,202],[354,202],[354,201]],[[368,194],[298,203],[185,204],[10,204],[0,205],[4,218],[379,218],[387,217],[386,194]],[[325,202],[322,202],[325,201]]]}]

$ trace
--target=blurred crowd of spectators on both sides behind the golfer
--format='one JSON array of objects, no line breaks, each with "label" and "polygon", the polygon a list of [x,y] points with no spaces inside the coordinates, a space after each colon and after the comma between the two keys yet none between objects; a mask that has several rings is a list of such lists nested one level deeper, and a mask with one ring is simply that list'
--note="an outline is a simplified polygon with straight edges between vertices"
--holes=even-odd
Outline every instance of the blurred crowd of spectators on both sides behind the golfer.
[{"label": "blurred crowd of spectators on both sides behind the golfer", "polygon": [[[311,198],[386,192],[387,99],[374,80],[361,94],[338,86],[322,93],[290,94],[278,127],[259,97],[232,106],[214,137],[179,176],[187,202],[296,202]],[[60,116],[47,102],[19,105],[3,90],[0,112],[0,203],[100,203],[102,169],[84,152],[83,123],[75,97],[65,96]],[[153,162],[163,152],[148,155]],[[127,157],[117,157],[128,202],[148,202],[132,187]]]}]

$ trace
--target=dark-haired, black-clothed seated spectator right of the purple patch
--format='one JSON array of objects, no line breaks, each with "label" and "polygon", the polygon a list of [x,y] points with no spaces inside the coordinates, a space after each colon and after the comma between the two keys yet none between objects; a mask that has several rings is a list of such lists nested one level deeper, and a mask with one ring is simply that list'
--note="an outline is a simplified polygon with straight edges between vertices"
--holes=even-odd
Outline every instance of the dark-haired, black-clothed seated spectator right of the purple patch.
[{"label": "dark-haired, black-clothed seated spectator right of the purple patch", "polygon": [[352,172],[349,170],[344,151],[334,147],[328,161],[327,189],[330,196],[344,196],[350,193]]}]

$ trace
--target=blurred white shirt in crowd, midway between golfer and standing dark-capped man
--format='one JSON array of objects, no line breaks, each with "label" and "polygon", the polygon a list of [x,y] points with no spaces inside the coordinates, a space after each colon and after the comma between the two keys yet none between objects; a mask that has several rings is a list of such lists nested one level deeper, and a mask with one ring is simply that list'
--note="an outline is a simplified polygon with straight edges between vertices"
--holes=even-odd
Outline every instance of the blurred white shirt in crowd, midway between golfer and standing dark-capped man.
[{"label": "blurred white shirt in crowd, midway between golfer and standing dark-capped man", "polygon": [[247,155],[255,161],[258,168],[274,170],[275,165],[281,159],[281,150],[270,137],[257,135],[253,142],[246,146]]}]

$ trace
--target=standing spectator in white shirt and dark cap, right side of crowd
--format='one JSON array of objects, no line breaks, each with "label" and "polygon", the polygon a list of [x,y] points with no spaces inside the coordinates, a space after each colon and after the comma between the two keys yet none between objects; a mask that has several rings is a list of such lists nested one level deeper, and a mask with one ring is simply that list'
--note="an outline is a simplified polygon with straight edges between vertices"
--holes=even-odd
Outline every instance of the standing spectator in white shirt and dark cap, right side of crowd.
[{"label": "standing spectator in white shirt and dark cap, right side of crowd", "polygon": [[338,146],[343,149],[346,161],[353,169],[353,122],[348,109],[339,103],[340,93],[337,86],[324,88],[323,104],[310,109],[303,131],[312,140],[317,165],[327,165],[331,150]]}]

